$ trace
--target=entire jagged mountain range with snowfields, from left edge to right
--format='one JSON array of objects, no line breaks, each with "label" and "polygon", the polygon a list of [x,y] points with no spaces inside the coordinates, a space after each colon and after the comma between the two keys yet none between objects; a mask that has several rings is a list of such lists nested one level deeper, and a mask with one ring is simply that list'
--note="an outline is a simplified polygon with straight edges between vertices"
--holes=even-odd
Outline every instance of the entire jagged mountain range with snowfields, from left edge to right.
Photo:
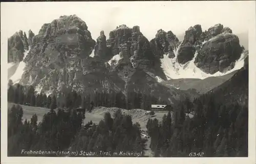
[{"label": "entire jagged mountain range with snowfields, from left edge to right", "polygon": [[206,31],[191,26],[183,40],[162,29],[148,40],[139,26],[120,25],[108,39],[101,31],[94,40],[87,24],[69,15],[42,25],[36,35],[19,31],[8,39],[8,78],[48,94],[135,91],[173,104],[234,86],[248,74],[245,59],[239,37],[222,24]]}]

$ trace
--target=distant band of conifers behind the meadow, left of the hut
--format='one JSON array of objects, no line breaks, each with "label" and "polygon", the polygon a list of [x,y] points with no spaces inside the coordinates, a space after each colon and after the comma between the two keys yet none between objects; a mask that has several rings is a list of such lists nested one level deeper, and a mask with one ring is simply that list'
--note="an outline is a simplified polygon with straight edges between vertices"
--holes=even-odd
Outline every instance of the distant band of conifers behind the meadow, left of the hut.
[{"label": "distant band of conifers behind the meadow, left of the hut", "polygon": [[8,102],[45,107],[51,110],[56,108],[74,109],[78,107],[92,110],[93,107],[99,106],[151,110],[152,104],[167,104],[165,101],[161,101],[154,96],[136,92],[130,92],[126,97],[122,92],[96,92],[93,95],[83,96],[73,91],[62,94],[58,98],[55,95],[36,94],[33,86],[25,88],[20,84],[13,85],[12,81],[9,81],[8,87]]}]

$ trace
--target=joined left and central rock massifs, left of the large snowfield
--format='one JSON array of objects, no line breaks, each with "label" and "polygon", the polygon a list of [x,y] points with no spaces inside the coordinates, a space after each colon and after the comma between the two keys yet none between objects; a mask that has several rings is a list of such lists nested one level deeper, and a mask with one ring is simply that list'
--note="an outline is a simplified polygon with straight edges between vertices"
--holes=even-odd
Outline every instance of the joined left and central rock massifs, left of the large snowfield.
[{"label": "joined left and central rock massifs, left of the large snowfield", "polygon": [[[160,62],[157,65],[150,42],[138,26],[119,26],[110,32],[108,40],[101,31],[95,42],[86,23],[71,15],[44,24],[37,35],[29,32],[29,36],[31,48],[24,59],[27,68],[20,82],[33,85],[37,91],[140,91],[165,95],[170,102],[185,96],[157,83]],[[93,50],[95,55],[90,57]],[[109,64],[116,55],[120,60]]]}]

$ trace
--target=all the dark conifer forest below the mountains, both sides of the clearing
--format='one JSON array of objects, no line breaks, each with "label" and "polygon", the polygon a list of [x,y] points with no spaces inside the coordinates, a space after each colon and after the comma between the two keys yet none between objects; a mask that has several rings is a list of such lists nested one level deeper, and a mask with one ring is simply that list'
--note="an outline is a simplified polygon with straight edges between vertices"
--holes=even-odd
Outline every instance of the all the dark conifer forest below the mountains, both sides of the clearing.
[{"label": "all the dark conifer forest below the mountains, both sides of the clearing", "polygon": [[[98,93],[82,96],[67,93],[63,100],[55,95],[35,94],[32,86],[9,83],[8,101],[14,104],[51,109],[37,124],[37,116],[22,120],[23,110],[14,105],[8,110],[8,155],[20,155],[21,149],[138,151],[145,150],[140,125],[132,117],[116,112],[114,118],[105,113],[98,125],[83,125],[81,107],[141,108],[150,110],[151,104],[164,103],[141,93]],[[58,108],[58,110],[54,110]],[[67,110],[64,110],[67,109]],[[181,156],[247,156],[248,106],[225,103],[215,94],[205,94],[191,102],[188,98],[172,106],[162,120],[148,119],[146,128],[151,137],[150,148],[155,157]],[[185,113],[194,111],[194,117]],[[171,114],[174,114],[171,116]]]}]

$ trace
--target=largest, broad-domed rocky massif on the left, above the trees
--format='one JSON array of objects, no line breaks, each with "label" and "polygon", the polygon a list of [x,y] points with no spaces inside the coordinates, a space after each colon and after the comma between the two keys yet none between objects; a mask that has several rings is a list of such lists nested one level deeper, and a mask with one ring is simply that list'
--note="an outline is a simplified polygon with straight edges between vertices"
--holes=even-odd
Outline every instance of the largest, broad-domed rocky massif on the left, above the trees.
[{"label": "largest, broad-domed rocky massif on the left, above the trees", "polygon": [[[88,71],[92,72],[94,67],[87,70],[83,64],[91,62],[91,66],[95,64],[97,67],[97,61],[87,61],[95,40],[86,23],[76,15],[60,16],[51,23],[42,25],[39,33],[33,35],[29,31],[29,41],[32,38],[32,44],[25,60],[28,69],[24,72],[21,83],[32,84],[42,91],[50,88],[58,90],[62,85],[68,88],[74,85],[84,87],[83,76]],[[63,69],[66,70],[65,75]]]}]

